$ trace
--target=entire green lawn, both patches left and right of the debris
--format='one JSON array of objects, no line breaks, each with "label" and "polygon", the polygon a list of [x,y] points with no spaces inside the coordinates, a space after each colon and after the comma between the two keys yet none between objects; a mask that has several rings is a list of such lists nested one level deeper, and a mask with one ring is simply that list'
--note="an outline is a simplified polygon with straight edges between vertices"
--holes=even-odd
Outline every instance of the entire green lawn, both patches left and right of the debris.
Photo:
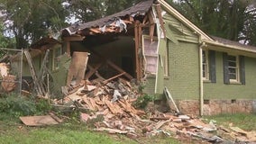
[{"label": "entire green lawn, both patches left and right of the debris", "polygon": [[[175,134],[171,137],[143,137],[139,139],[129,139],[120,134],[108,134],[97,132],[87,128],[85,123],[75,121],[66,121],[58,125],[45,127],[28,127],[25,126],[17,117],[10,116],[5,112],[0,116],[0,143],[86,143],[86,144],[181,144],[181,143],[198,143],[194,139],[174,139]],[[233,126],[243,130],[256,130],[255,114],[224,114],[217,116],[206,116],[207,120],[215,120],[217,125],[228,127]]]}]

